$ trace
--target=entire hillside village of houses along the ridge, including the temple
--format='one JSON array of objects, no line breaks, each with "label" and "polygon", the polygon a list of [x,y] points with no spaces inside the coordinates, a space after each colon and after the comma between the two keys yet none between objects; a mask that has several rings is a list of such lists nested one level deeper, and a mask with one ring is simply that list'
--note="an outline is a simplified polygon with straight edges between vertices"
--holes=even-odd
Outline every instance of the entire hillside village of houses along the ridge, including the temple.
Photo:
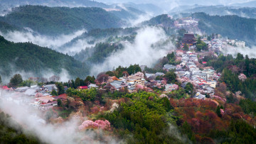
[{"label": "entire hillside village of houses along the ridge, including the temple", "polygon": [[[189,21],[194,22],[194,20]],[[213,70],[213,67],[206,67],[205,65],[207,62],[200,63],[199,61],[203,60],[203,58],[207,55],[217,57],[218,55],[215,53],[220,53],[226,45],[245,46],[245,43],[238,40],[218,38],[213,38],[212,40],[201,38],[201,40],[207,44],[208,50],[196,52],[196,38],[194,35],[185,34],[183,40],[181,41],[181,48],[183,48],[184,45],[188,45],[189,50],[175,50],[174,53],[178,65],[166,64],[164,67],[162,67],[161,72],[146,73],[142,71],[131,75],[124,74],[123,77],[112,76],[103,79],[102,82],[95,79],[95,84],[90,83],[86,86],[81,85],[77,87],[77,89],[100,89],[110,90],[110,92],[127,89],[127,92],[129,93],[138,92],[139,90],[154,92],[154,89],[162,89],[163,93],[161,94],[161,97],[167,97],[166,94],[178,89],[185,89],[186,85],[190,83],[193,85],[192,98],[208,99],[215,97],[215,87],[216,84],[218,84],[220,73]],[[144,70],[146,66],[142,65],[140,67],[142,70]],[[176,83],[167,82],[166,78],[164,78],[165,73],[169,71],[176,74]],[[40,109],[42,111],[51,109],[53,106],[58,106],[58,99],[63,102],[67,101],[68,99],[67,94],[60,94],[58,96],[52,95],[53,91],[58,91],[55,84],[46,84],[41,87],[35,85],[31,87],[18,88],[1,86],[0,89],[12,92],[12,96],[14,97],[6,98],[9,101],[20,99],[21,96],[33,97],[33,101],[26,102],[28,102],[28,105],[34,109]],[[64,89],[66,92],[68,87],[65,86]],[[3,99],[3,96],[4,94],[1,94],[1,99]]]}]

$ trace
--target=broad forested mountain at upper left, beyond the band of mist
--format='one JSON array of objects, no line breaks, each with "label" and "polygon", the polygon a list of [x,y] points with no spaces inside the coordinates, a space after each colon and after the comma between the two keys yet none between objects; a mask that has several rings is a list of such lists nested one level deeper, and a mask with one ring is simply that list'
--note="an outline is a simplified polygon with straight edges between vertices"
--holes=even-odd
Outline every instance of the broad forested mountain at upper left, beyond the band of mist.
[{"label": "broad forested mountain at upper left, beyond the band of mist", "polygon": [[71,33],[82,28],[117,28],[124,24],[120,18],[100,8],[68,8],[47,6],[20,6],[0,21],[18,28],[31,28],[41,34]]}]

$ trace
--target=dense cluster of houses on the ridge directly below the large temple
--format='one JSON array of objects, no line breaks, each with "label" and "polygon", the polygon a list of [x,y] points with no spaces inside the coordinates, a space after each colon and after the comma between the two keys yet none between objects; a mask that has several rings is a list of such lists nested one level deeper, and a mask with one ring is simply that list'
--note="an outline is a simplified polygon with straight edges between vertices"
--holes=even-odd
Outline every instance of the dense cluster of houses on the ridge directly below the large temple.
[{"label": "dense cluster of houses on the ridge directly below the large temple", "polygon": [[198,63],[196,53],[182,50],[178,50],[176,53],[181,57],[181,64],[176,65],[175,72],[178,81],[181,82],[181,87],[186,87],[188,82],[193,84],[196,87],[195,97],[198,99],[205,99],[205,94],[213,95],[220,75],[207,67],[205,70],[200,70],[196,65]]}]

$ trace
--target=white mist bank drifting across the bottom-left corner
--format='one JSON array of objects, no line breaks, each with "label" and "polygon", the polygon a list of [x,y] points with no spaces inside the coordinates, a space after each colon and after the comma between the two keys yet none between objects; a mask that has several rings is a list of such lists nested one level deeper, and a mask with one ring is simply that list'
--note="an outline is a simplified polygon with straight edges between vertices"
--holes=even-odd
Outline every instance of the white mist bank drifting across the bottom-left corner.
[{"label": "white mist bank drifting across the bottom-left corner", "polygon": [[[44,112],[34,109],[26,104],[26,101],[33,101],[29,97],[17,97],[13,99],[14,94],[9,94],[0,90],[0,109],[4,113],[11,115],[14,121],[23,126],[24,133],[33,133],[43,143],[101,143],[95,139],[94,131],[81,132],[78,129],[81,121],[79,118],[70,118],[63,123],[46,123]],[[108,143],[117,143],[114,138],[105,136],[102,133],[102,139],[109,140]]]}]

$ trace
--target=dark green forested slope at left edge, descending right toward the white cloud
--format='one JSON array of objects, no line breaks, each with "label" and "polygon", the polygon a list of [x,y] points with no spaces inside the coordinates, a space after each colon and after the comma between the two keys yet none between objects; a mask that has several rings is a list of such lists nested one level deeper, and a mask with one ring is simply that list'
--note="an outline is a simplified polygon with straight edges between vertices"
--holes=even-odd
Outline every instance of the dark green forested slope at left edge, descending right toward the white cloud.
[{"label": "dark green forested slope at left edge, descending right toward the white cloud", "polygon": [[2,76],[21,71],[42,76],[41,74],[47,70],[60,73],[65,69],[72,77],[85,77],[89,71],[88,67],[73,57],[32,43],[12,43],[2,36],[0,36],[0,61]]}]

